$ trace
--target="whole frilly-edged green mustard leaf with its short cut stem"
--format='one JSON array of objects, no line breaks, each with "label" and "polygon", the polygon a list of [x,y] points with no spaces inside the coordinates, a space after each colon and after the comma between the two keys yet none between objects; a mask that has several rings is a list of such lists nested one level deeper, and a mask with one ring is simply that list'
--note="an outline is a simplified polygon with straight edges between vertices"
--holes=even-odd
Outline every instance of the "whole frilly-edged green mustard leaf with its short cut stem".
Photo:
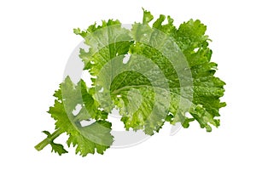
[{"label": "whole frilly-edged green mustard leaf with its short cut stem", "polygon": [[92,88],[70,77],[61,83],[48,111],[56,130],[44,131],[47,138],[35,146],[37,150],[50,144],[59,155],[67,153],[54,143],[67,133],[67,145],[77,154],[103,154],[113,144],[107,121],[113,108],[119,109],[126,130],[142,129],[149,135],[165,122],[187,128],[195,121],[207,132],[219,126],[225,83],[215,76],[218,65],[211,61],[207,26],[189,20],[176,27],[163,14],[152,20],[154,16],[143,9],[142,23],[130,30],[119,20],[73,29],[90,47],[81,48],[79,57],[92,76]]}]

